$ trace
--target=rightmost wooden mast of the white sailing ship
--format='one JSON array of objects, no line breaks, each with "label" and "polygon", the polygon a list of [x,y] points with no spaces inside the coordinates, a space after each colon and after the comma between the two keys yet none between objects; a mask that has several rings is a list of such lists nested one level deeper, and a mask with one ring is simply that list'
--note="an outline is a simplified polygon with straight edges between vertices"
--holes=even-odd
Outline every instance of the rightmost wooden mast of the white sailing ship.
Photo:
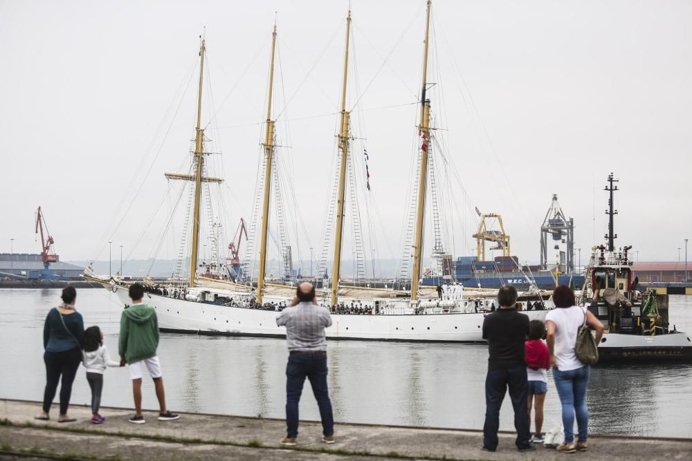
[{"label": "rightmost wooden mast of the white sailing ship", "polygon": [[418,183],[418,200],[416,210],[416,234],[413,247],[413,268],[411,274],[411,301],[418,301],[418,285],[421,278],[421,265],[423,259],[423,230],[426,206],[426,188],[428,180],[428,145],[430,142],[430,100],[426,99],[426,87],[428,86],[428,45],[430,38],[430,4],[426,12],[426,39],[423,53],[423,82],[421,85],[421,121],[419,133],[423,140],[421,144],[420,180]]}]

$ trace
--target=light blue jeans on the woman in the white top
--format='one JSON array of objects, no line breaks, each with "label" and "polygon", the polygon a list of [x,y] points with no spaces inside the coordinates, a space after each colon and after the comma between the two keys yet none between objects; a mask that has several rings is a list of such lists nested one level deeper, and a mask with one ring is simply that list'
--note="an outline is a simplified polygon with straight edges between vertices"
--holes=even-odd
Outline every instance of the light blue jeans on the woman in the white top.
[{"label": "light blue jeans on the woman in the white top", "polygon": [[589,384],[591,367],[586,365],[576,370],[561,371],[553,368],[553,380],[558,389],[563,407],[565,443],[574,442],[574,415],[579,428],[579,441],[586,442],[589,426],[589,411],[586,408],[586,387]]}]

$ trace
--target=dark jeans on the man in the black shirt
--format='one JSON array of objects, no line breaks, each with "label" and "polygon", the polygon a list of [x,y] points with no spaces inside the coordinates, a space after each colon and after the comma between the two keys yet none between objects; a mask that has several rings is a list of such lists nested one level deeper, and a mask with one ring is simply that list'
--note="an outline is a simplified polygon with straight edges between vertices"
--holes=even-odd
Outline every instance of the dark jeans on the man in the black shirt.
[{"label": "dark jeans on the man in the black shirt", "polygon": [[504,394],[509,388],[509,398],[514,408],[514,427],[517,430],[516,446],[524,449],[531,446],[529,438],[529,412],[527,411],[528,385],[526,366],[515,366],[507,370],[488,370],[485,378],[485,424],[483,425],[483,446],[486,449],[498,447],[500,429],[500,407]]}]

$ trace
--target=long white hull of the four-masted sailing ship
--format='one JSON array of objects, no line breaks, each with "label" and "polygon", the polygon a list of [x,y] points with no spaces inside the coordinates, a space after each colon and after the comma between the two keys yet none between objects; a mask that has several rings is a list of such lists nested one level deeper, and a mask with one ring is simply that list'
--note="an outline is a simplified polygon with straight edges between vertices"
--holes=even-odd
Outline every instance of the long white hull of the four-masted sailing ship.
[{"label": "long white hull of the four-masted sailing ship", "polygon": [[[110,285],[123,306],[131,303],[127,288]],[[145,303],[156,308],[158,326],[165,332],[251,337],[285,337],[276,325],[278,312],[145,294]],[[524,312],[529,319],[545,321],[547,311]],[[482,342],[484,313],[441,314],[332,314],[326,329],[329,339],[376,341]]]}]

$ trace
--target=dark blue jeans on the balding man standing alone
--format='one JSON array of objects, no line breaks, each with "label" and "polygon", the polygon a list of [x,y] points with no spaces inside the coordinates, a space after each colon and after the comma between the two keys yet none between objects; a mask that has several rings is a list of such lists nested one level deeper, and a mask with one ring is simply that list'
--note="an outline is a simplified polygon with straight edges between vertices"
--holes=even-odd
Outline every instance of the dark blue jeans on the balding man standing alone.
[{"label": "dark blue jeans on the balding man standing alone", "polygon": [[334,416],[327,388],[327,354],[291,354],[286,365],[286,435],[298,437],[298,402],[305,378],[320,408],[322,434],[334,435]]}]

